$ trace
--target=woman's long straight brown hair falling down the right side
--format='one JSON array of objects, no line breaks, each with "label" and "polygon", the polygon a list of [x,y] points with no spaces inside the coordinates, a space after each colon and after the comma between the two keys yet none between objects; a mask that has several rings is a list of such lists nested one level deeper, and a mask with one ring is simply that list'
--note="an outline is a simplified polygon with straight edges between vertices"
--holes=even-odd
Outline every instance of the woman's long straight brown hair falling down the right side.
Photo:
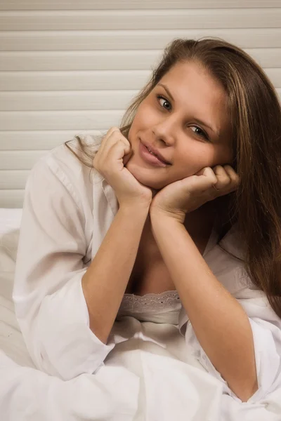
[{"label": "woman's long straight brown hair falling down the right side", "polygon": [[[171,67],[191,60],[203,65],[228,97],[235,156],[232,166],[240,176],[240,185],[236,192],[216,199],[221,236],[237,223],[245,269],[281,317],[281,108],[263,69],[240,48],[221,39],[175,39],[166,46],[150,80],[126,110],[120,131],[128,138],[141,102]],[[79,159],[92,166],[101,138],[93,149],[93,145],[77,139],[85,156]]]}]

